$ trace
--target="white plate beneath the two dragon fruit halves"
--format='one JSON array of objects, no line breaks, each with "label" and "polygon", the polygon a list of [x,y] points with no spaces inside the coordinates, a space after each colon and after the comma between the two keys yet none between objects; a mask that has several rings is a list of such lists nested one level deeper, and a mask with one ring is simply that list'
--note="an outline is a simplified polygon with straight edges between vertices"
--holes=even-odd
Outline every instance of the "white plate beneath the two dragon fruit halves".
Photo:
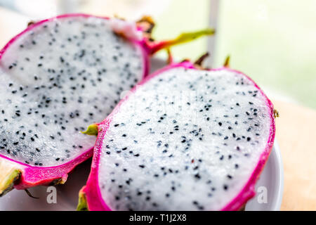
[{"label": "white plate beneath the two dragon fruit halves", "polygon": [[[162,60],[153,60],[152,70],[162,68]],[[57,203],[51,200],[51,190],[46,186],[29,188],[34,197],[25,191],[13,190],[0,198],[0,210],[75,210],[79,190],[88,178],[91,160],[79,165],[68,177],[66,184],[56,186]],[[47,192],[48,191],[48,192]],[[246,204],[246,210],[279,210],[283,194],[283,165],[279,146],[275,140],[269,160],[256,184],[257,195]]]}]

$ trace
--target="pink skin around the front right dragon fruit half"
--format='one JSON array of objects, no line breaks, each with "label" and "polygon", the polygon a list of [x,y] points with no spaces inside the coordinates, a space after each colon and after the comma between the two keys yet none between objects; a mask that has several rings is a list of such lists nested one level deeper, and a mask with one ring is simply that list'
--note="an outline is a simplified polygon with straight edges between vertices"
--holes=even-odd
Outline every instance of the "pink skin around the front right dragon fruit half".
[{"label": "pink skin around the front right dragon fruit half", "polygon": [[[185,60],[182,63],[174,63],[169,66],[166,66],[165,68],[162,68],[161,70],[158,70],[157,72],[154,72],[152,75],[146,77],[142,82],[140,82],[139,85],[141,86],[143,84],[146,84],[148,81],[150,81],[150,79],[161,75],[163,72],[172,70],[173,68],[186,68],[186,69],[194,69],[194,70],[198,69],[193,63],[190,63],[190,61]],[[251,84],[253,84],[254,87],[262,94],[263,98],[265,99],[266,108],[270,112],[269,113],[270,131],[268,134],[268,141],[265,145],[265,148],[261,151],[260,158],[256,162],[256,166],[254,167],[254,170],[251,173],[251,176],[249,177],[248,181],[246,181],[244,186],[240,189],[239,193],[237,193],[237,195],[235,195],[234,198],[231,198],[227,204],[225,204],[223,207],[220,207],[218,209],[221,211],[235,211],[235,210],[240,210],[246,204],[246,202],[249,199],[253,198],[254,195],[256,194],[255,192],[256,181],[258,180],[263,170],[263,167],[265,166],[265,163],[268,160],[268,157],[270,155],[270,151],[272,150],[273,142],[275,139],[275,110],[273,109],[273,105],[271,101],[268,99],[267,96],[265,96],[265,94],[260,89],[260,87],[250,77],[248,77],[247,75],[244,75],[244,73],[239,72],[237,70],[232,70],[228,67],[211,69],[209,71],[221,71],[221,70],[235,72],[239,75],[244,76],[245,79],[248,79],[249,82],[251,82]],[[91,210],[91,211],[113,210],[112,207],[110,207],[108,203],[105,202],[103,195],[101,193],[100,184],[99,184],[99,176],[100,176],[99,167],[100,167],[100,159],[101,159],[100,155],[105,145],[105,143],[103,142],[103,139],[105,138],[105,135],[107,134],[107,130],[109,129],[112,123],[113,116],[116,113],[119,113],[122,103],[124,103],[125,101],[128,101],[129,96],[133,95],[136,92],[136,90],[137,90],[137,87],[134,87],[131,90],[131,92],[123,100],[119,102],[119,104],[113,110],[113,112],[103,122],[98,124],[98,139],[96,141],[96,146],[94,148],[93,163],[91,165],[91,173],[88,177],[88,181],[86,182],[86,186],[81,188],[81,191],[79,192],[79,205],[77,207],[77,210]],[[171,209],[171,210],[178,210],[178,209]]]}]

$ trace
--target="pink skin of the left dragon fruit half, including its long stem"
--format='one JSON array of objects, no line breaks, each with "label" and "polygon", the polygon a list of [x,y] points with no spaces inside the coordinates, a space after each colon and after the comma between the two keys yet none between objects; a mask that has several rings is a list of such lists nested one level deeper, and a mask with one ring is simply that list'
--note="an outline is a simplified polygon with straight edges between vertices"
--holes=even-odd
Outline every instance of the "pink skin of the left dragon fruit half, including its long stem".
[{"label": "pink skin of the left dragon fruit half, including its long stem", "polygon": [[[110,18],[97,17],[81,13],[59,15],[55,18],[41,20],[37,23],[29,25],[26,30],[22,31],[20,34],[13,37],[13,39],[11,39],[11,41],[9,41],[8,44],[6,44],[6,46],[4,46],[4,49],[0,51],[0,66],[4,63],[3,58],[6,55],[7,51],[11,49],[11,46],[14,46],[16,41],[26,38],[27,34],[29,34],[29,32],[32,32],[32,30],[37,29],[37,27],[41,27],[46,24],[49,25],[55,20],[65,18],[86,18],[86,20],[96,18],[100,20],[111,20]],[[116,21],[115,23],[120,23],[121,25],[120,29],[117,30],[117,32],[120,35],[123,35],[126,39],[128,39],[128,41],[131,44],[133,44],[133,46],[135,46],[136,49],[140,49],[142,53],[143,75],[141,75],[140,79],[143,79],[148,74],[150,68],[149,58],[150,56],[152,56],[152,54],[154,54],[156,51],[159,51],[160,49],[163,49],[166,46],[168,47],[174,44],[187,41],[187,39],[185,39],[180,40],[177,43],[175,43],[174,41],[172,43],[170,41],[152,42],[149,41],[148,37],[140,37],[139,32],[142,32],[142,27],[136,26],[135,23],[131,24],[124,21]],[[115,25],[115,23],[113,23],[113,25]],[[124,24],[127,25],[124,27]],[[124,30],[126,30],[126,34],[124,34]],[[131,33],[133,32],[135,32],[135,34],[137,35],[131,35]],[[209,34],[209,31],[204,34]],[[190,39],[195,39],[195,37]],[[164,43],[164,46],[162,46],[162,43]],[[108,113],[110,113],[110,111],[107,112],[107,114]],[[14,160],[13,158],[9,158],[8,155],[0,154],[0,196],[4,195],[8,191],[11,191],[13,187],[16,189],[25,189],[30,188],[32,186],[65,183],[65,181],[67,180],[67,174],[70,173],[72,169],[74,169],[74,167],[79,165],[81,162],[84,162],[84,160],[91,158],[91,156],[93,155],[92,145],[93,142],[91,144],[91,147],[81,150],[79,155],[77,155],[72,160],[65,160],[65,162],[63,162],[62,164],[53,165],[49,167],[28,165],[24,162],[21,162],[21,160]]]}]

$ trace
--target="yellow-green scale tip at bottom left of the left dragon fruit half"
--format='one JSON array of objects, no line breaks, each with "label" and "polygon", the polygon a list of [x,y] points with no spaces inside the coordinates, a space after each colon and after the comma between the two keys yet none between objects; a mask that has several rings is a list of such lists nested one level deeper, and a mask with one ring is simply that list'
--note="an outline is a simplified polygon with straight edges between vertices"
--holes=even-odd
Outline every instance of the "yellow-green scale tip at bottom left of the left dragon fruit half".
[{"label": "yellow-green scale tip at bottom left of the left dragon fruit half", "polygon": [[11,162],[0,159],[0,197],[13,189],[15,181],[20,179],[21,171]]}]

